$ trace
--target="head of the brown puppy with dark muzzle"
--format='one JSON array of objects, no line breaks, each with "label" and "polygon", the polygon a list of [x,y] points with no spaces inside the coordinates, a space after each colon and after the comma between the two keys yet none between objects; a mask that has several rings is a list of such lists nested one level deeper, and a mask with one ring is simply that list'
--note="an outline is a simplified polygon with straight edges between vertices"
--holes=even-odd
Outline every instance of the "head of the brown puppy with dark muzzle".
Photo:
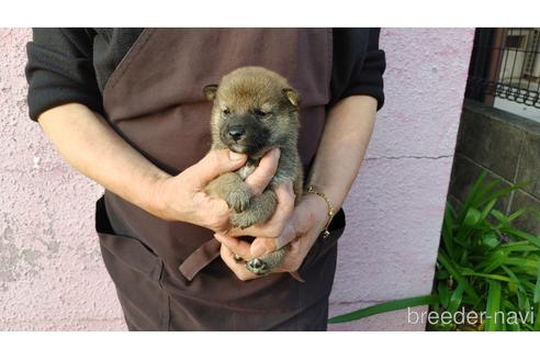
[{"label": "head of the brown puppy with dark muzzle", "polygon": [[214,101],[214,143],[251,158],[272,147],[296,145],[299,95],[278,74],[260,67],[239,68],[220,86],[206,86],[204,94]]}]

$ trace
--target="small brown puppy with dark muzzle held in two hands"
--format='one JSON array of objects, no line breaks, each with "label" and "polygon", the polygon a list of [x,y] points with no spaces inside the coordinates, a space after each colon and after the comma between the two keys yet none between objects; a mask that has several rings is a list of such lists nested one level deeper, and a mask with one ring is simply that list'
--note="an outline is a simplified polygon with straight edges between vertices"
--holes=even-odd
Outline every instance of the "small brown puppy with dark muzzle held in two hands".
[{"label": "small brown puppy with dark muzzle held in two hands", "polygon": [[[296,203],[302,196],[303,173],[297,150],[299,94],[280,75],[262,67],[238,68],[223,77],[220,85],[204,87],[212,109],[212,149],[246,154],[246,165],[209,183],[206,193],[225,200],[232,210],[230,225],[245,228],[266,222],[275,211],[274,189],[292,181]],[[279,147],[278,169],[268,188],[254,195],[246,178],[255,171],[262,156]],[[267,274],[279,267],[285,255],[281,248],[246,267],[256,274]]]}]

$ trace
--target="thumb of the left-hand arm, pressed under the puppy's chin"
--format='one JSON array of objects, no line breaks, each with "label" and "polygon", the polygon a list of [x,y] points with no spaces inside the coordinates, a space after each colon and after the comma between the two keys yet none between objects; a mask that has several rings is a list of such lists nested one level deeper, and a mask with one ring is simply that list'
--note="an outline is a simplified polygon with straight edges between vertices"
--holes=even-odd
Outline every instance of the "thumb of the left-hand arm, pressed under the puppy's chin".
[{"label": "thumb of the left-hand arm, pressed under the puppy's chin", "polygon": [[240,168],[246,159],[245,154],[233,153],[228,149],[211,150],[193,166],[193,170],[200,183],[205,185],[222,173]]}]

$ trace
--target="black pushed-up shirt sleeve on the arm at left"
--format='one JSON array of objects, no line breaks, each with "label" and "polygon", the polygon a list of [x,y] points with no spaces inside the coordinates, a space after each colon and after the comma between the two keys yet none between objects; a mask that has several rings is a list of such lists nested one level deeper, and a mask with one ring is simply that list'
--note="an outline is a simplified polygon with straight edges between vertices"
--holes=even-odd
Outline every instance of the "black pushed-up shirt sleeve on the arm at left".
[{"label": "black pushed-up shirt sleeve on the arm at left", "polygon": [[34,29],[26,44],[29,114],[34,121],[54,106],[78,102],[102,113],[92,63],[93,35],[85,29]]}]

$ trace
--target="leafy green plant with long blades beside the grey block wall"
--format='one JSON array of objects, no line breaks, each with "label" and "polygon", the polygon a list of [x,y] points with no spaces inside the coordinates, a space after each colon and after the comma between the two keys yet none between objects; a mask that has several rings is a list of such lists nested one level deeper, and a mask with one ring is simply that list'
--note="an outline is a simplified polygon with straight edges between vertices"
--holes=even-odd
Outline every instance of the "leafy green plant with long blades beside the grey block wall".
[{"label": "leafy green plant with long blades beside the grey block wall", "polygon": [[[498,180],[485,178],[483,172],[459,211],[447,203],[431,295],[378,304],[329,323],[430,305],[430,312],[454,319],[430,325],[432,330],[540,330],[540,237],[513,226],[535,211],[504,215],[495,205],[519,185],[500,188]],[[460,314],[477,314],[479,319],[455,320]]]}]

